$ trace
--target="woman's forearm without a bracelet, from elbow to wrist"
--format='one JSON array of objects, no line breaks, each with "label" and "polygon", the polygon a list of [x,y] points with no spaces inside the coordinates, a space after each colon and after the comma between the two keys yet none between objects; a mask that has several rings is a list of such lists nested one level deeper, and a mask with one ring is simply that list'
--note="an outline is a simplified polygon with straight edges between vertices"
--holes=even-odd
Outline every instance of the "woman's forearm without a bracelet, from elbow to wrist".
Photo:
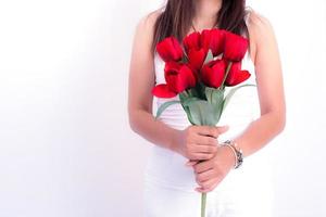
[{"label": "woman's forearm without a bracelet, from elbow to wrist", "polygon": [[179,130],[155,120],[149,112],[145,110],[133,111],[129,114],[129,124],[136,133],[148,141],[172,151],[177,150],[176,138]]}]

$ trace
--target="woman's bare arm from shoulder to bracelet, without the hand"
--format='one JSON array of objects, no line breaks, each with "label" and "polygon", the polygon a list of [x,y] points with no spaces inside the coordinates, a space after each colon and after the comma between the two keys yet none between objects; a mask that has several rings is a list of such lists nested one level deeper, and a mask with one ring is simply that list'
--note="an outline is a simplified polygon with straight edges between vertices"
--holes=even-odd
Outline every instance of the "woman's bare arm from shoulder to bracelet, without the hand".
[{"label": "woman's bare arm from shoulder to bracelet, without the hand", "polygon": [[286,125],[281,63],[271,23],[252,12],[249,20],[251,59],[254,62],[261,117],[235,139],[248,156],[280,133]]}]

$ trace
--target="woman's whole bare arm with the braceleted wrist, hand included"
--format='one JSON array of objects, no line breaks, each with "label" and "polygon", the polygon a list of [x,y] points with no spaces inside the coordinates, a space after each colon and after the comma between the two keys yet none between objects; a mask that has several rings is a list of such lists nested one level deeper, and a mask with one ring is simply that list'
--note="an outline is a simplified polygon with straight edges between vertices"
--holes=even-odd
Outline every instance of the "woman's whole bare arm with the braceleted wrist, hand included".
[{"label": "woman's whole bare arm with the braceleted wrist, hand included", "polygon": [[[254,61],[261,116],[235,138],[243,156],[262,149],[285,128],[286,105],[277,42],[269,22],[252,12],[249,22],[250,54]],[[223,146],[224,148],[224,146]],[[212,191],[235,165],[228,148],[220,148],[209,161],[193,166],[199,192]]]}]

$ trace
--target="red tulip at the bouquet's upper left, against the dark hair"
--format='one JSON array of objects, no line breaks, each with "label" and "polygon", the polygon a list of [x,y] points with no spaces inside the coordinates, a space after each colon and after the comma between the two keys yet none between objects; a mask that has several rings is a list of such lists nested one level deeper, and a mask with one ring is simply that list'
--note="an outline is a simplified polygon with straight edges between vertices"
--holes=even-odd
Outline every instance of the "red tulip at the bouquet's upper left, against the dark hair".
[{"label": "red tulip at the bouquet's upper left, against the dark hair", "polygon": [[174,37],[168,37],[160,41],[156,44],[156,51],[165,62],[179,61],[184,55],[183,48]]}]

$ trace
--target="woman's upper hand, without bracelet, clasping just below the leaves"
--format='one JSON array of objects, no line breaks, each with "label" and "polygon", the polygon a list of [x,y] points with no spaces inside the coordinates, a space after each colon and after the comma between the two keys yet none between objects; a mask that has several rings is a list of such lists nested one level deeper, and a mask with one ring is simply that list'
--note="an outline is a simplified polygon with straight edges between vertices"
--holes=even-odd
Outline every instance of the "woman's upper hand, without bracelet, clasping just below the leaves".
[{"label": "woman's upper hand, without bracelet, clasping just below the leaves", "polygon": [[227,129],[227,126],[189,126],[178,133],[175,151],[190,161],[210,159],[217,151],[217,137]]}]

